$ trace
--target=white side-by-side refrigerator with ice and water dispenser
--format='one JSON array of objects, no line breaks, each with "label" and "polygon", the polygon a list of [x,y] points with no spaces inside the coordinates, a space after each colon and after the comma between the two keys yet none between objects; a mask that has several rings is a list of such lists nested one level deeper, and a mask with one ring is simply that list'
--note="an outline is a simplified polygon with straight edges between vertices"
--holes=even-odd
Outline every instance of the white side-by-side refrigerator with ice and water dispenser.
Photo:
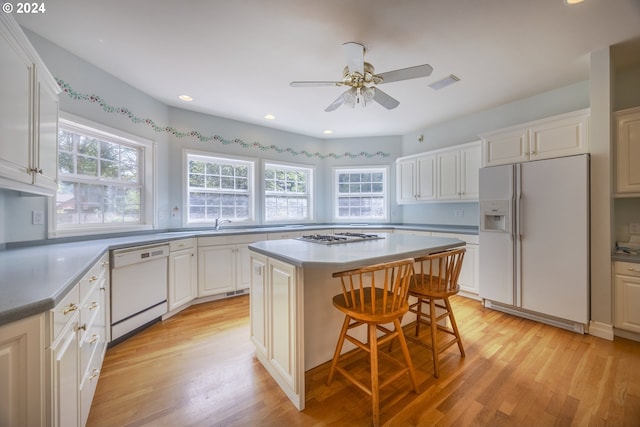
[{"label": "white side-by-side refrigerator with ice and water dispenser", "polygon": [[480,169],[485,306],[584,332],[589,321],[589,155]]}]

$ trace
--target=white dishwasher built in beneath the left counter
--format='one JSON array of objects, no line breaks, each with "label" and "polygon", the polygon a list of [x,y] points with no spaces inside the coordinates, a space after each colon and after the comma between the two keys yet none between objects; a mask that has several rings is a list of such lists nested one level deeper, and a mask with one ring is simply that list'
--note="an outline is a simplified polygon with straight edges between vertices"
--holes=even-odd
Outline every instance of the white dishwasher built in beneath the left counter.
[{"label": "white dishwasher built in beneath the left counter", "polygon": [[126,338],[167,312],[169,245],[111,251],[111,340]]}]

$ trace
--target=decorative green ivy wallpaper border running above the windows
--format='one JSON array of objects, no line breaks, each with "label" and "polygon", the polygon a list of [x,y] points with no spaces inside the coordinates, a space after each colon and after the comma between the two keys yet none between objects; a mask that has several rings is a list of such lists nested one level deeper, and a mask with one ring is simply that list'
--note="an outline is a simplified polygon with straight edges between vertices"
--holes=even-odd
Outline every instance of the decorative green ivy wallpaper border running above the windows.
[{"label": "decorative green ivy wallpaper border running above the windows", "polygon": [[201,142],[217,142],[220,143],[222,145],[238,145],[242,148],[245,149],[259,149],[261,151],[275,151],[277,153],[288,153],[288,154],[292,154],[294,156],[304,156],[307,158],[311,158],[311,157],[318,157],[320,159],[326,159],[326,158],[333,158],[333,159],[343,159],[343,158],[350,158],[350,159],[354,159],[354,158],[358,158],[358,157],[366,157],[366,158],[373,158],[376,156],[380,156],[380,157],[389,157],[389,153],[385,153],[383,151],[376,151],[375,153],[367,153],[365,151],[361,151],[359,153],[350,153],[350,152],[344,152],[344,153],[328,153],[328,154],[322,154],[319,152],[315,152],[315,153],[310,153],[307,150],[294,150],[293,148],[290,147],[278,147],[277,145],[271,144],[271,145],[265,145],[265,144],[261,144],[260,142],[246,142],[243,141],[240,138],[236,138],[236,139],[226,139],[221,137],[220,135],[213,135],[213,136],[206,136],[203,135],[202,133],[196,131],[196,130],[191,130],[191,131],[180,131],[172,126],[160,126],[158,125],[153,119],[150,118],[145,118],[142,119],[138,116],[136,116],[131,110],[129,110],[128,108],[125,107],[113,107],[109,104],[107,104],[107,102],[102,99],[102,97],[98,96],[98,95],[87,95],[85,93],[80,93],[80,92],[76,92],[68,83],[66,83],[65,81],[56,78],[58,84],[60,85],[60,88],[62,89],[62,91],[64,93],[67,94],[67,96],[69,96],[69,98],[73,99],[74,101],[89,101],[91,103],[94,104],[98,104],[102,110],[106,113],[109,114],[120,114],[122,116],[126,116],[129,118],[129,120],[131,120],[133,123],[135,124],[144,124],[147,125],[149,127],[151,127],[154,131],[156,132],[165,132],[167,134],[173,135],[176,138],[185,138],[185,137],[193,137],[198,139]]}]

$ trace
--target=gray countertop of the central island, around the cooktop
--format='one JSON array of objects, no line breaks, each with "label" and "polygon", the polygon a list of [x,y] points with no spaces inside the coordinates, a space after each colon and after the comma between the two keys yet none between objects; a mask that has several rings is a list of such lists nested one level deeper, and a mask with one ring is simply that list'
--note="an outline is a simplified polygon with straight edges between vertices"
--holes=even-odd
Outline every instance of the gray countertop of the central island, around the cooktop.
[{"label": "gray countertop of the central island, around the cooktop", "polygon": [[346,270],[402,258],[440,252],[465,242],[445,237],[380,233],[384,239],[323,245],[302,240],[268,240],[249,249],[298,267],[334,267]]}]

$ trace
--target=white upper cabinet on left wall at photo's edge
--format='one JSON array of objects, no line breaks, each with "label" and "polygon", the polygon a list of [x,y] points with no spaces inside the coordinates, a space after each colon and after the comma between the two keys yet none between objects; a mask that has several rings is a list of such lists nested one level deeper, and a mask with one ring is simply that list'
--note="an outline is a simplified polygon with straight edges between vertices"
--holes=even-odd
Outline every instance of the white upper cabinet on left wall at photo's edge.
[{"label": "white upper cabinet on left wall at photo's edge", "polygon": [[60,88],[8,14],[0,14],[0,58],[0,187],[54,194]]}]

